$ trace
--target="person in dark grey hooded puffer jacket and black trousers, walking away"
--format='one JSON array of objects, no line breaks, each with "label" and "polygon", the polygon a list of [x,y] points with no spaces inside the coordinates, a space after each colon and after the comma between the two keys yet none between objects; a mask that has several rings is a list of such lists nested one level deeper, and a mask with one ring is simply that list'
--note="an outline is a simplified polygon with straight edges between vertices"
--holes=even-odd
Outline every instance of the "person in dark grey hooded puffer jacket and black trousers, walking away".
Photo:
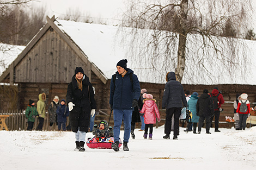
[{"label": "person in dark grey hooded puffer jacket and black trousers, walking away", "polygon": [[[181,108],[183,105],[187,107],[187,100],[183,90],[183,86],[179,81],[176,81],[174,72],[169,72],[166,75],[166,85],[164,86],[162,108],[166,108],[166,122],[164,124],[164,133],[166,134],[163,138],[170,138],[170,129],[172,127],[172,117],[174,115],[174,129],[173,139],[178,139],[179,131],[179,117],[181,114]],[[183,103],[183,105],[182,105]]]}]

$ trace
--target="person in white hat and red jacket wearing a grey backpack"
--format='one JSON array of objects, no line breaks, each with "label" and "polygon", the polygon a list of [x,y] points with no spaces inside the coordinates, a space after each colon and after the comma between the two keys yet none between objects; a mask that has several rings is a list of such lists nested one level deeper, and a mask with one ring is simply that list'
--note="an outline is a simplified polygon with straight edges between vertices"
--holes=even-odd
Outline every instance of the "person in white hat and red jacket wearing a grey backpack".
[{"label": "person in white hat and red jacket wearing a grey backpack", "polygon": [[248,118],[248,115],[250,114],[250,102],[247,99],[248,95],[246,93],[242,93],[240,96],[241,99],[239,100],[239,103],[237,105],[236,113],[237,116],[239,114],[239,129],[245,130],[246,127],[246,119]]}]

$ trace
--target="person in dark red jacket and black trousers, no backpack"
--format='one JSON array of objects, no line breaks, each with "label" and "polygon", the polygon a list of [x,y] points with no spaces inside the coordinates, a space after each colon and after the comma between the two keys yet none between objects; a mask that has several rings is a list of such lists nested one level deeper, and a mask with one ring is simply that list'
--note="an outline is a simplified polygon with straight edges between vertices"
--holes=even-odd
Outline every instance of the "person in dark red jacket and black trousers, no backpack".
[{"label": "person in dark red jacket and black trousers, no backpack", "polygon": [[[218,102],[217,102],[216,106],[214,105],[214,115],[211,116],[210,123],[214,119],[215,132],[220,132],[220,130],[218,130],[218,119],[220,118],[220,114],[222,111],[221,105],[224,103],[224,99],[223,99],[222,94],[218,91],[218,87],[214,87],[214,90],[212,90],[212,92],[211,92],[211,97],[217,98]],[[214,99],[212,99],[212,100],[214,100]],[[214,102],[214,101],[212,101],[212,102]]]}]

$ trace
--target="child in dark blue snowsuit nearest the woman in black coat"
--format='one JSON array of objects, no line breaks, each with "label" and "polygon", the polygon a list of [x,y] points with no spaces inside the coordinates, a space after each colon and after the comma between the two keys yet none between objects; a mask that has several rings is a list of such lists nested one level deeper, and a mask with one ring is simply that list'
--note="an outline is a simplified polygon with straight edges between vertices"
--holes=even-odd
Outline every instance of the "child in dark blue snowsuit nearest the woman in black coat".
[{"label": "child in dark blue snowsuit nearest the woman in black coat", "polygon": [[60,105],[57,108],[57,122],[58,122],[58,130],[66,131],[66,117],[69,116],[69,108],[66,106],[65,99],[62,99]]}]

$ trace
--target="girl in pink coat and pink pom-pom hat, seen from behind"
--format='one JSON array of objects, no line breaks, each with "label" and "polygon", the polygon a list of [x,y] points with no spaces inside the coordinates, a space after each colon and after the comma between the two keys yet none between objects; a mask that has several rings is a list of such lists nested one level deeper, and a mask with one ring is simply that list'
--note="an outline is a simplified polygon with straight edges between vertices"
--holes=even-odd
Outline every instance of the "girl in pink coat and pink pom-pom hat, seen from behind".
[{"label": "girl in pink coat and pink pom-pom hat, seen from behind", "polygon": [[152,140],[153,124],[156,123],[156,117],[158,122],[161,121],[160,113],[156,105],[156,100],[153,99],[153,95],[144,93],[143,98],[145,98],[143,100],[144,105],[140,111],[141,113],[144,113],[145,133],[143,137],[147,139],[149,128],[149,140]]}]

